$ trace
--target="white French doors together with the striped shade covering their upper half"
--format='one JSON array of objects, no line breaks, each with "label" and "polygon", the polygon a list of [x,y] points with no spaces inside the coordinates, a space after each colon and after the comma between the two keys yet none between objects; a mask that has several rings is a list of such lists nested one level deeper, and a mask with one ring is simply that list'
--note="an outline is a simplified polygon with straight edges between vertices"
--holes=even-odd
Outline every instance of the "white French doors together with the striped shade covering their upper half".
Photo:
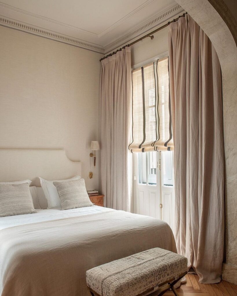
[{"label": "white French doors together with the striped shade covering their upper half", "polygon": [[173,225],[174,181],[168,57],[132,72],[134,211]]}]

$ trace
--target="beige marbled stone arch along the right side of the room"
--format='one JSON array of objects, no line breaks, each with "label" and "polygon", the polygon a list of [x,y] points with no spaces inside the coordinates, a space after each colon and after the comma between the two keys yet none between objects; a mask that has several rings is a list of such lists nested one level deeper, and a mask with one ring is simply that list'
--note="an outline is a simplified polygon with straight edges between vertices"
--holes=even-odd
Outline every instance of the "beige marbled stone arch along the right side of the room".
[{"label": "beige marbled stone arch along the right side of the room", "polygon": [[222,278],[237,284],[237,48],[224,20],[207,0],[176,1],[210,38],[222,69],[226,223]]}]

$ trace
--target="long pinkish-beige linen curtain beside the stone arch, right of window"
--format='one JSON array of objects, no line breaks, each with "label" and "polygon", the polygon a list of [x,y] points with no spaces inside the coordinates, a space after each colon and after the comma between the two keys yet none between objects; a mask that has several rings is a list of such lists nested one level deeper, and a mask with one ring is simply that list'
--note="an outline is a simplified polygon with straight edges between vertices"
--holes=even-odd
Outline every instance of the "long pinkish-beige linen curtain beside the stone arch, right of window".
[{"label": "long pinkish-beige linen curtain beside the stone arch, right of window", "polygon": [[220,63],[189,16],[169,26],[177,250],[201,283],[221,279],[224,152]]}]

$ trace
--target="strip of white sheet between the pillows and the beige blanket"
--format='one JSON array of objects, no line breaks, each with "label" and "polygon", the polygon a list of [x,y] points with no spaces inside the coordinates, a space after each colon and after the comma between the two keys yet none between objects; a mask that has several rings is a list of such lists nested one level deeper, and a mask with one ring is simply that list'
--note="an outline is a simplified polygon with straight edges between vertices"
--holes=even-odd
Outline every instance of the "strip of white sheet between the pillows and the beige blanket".
[{"label": "strip of white sheet between the pillows and the beige blanket", "polygon": [[111,211],[111,209],[97,205],[71,210],[61,210],[60,208],[37,210],[37,213],[34,214],[0,217],[0,230],[18,225],[91,215],[107,211]]}]

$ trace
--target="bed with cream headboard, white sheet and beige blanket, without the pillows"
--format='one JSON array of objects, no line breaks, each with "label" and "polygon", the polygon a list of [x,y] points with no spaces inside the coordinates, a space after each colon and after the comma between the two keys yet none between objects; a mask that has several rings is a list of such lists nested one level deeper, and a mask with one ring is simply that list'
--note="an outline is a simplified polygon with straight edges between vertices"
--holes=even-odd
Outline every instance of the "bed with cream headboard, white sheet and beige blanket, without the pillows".
[{"label": "bed with cream headboard, white sheet and beige blanket, without the pillows", "polygon": [[[10,156],[15,160],[7,161]],[[49,179],[81,174],[81,163],[65,157],[56,150],[0,151],[3,167],[8,165],[0,180],[31,178],[35,185],[40,174]],[[154,247],[176,252],[167,223],[95,205],[1,217],[0,295],[87,296],[86,270]]]}]

